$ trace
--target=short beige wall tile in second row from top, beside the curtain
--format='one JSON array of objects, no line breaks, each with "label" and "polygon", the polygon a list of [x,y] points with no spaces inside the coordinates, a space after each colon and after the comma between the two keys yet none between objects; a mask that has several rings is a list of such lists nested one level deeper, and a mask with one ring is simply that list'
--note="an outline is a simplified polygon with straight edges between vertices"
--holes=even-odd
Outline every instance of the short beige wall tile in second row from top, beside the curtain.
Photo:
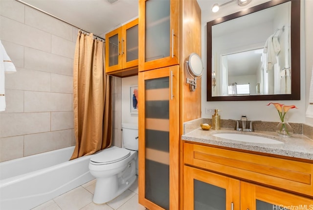
[{"label": "short beige wall tile in second row from top, beside the curtain", "polygon": [[74,59],[75,42],[52,35],[51,43],[51,52],[53,54]]}]

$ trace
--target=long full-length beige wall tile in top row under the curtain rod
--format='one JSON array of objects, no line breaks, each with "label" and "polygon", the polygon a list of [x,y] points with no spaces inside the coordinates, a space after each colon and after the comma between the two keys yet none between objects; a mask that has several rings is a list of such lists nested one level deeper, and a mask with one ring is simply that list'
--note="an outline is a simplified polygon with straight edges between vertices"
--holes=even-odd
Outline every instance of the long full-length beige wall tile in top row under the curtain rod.
[{"label": "long full-length beige wall tile in top row under the curtain rod", "polygon": [[25,7],[25,24],[64,39],[72,40],[72,26],[27,6]]}]

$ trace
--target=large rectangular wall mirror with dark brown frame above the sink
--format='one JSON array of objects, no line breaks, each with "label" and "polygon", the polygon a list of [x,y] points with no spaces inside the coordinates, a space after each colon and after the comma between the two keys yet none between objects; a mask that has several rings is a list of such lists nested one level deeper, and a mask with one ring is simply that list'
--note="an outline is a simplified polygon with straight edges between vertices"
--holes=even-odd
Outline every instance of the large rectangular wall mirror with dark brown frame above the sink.
[{"label": "large rectangular wall mirror with dark brown frame above the sink", "polygon": [[300,100],[300,1],[207,23],[207,101]]}]

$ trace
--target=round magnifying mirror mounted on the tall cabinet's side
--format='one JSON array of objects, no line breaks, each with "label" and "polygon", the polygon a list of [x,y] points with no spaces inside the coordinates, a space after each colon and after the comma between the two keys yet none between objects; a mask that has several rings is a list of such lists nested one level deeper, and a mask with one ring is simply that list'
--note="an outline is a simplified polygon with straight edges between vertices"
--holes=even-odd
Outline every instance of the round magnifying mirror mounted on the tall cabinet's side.
[{"label": "round magnifying mirror mounted on the tall cabinet's side", "polygon": [[202,76],[203,63],[201,57],[197,53],[191,53],[186,61],[187,71],[192,79],[187,78],[186,83],[189,84],[190,91],[197,88],[197,79]]}]

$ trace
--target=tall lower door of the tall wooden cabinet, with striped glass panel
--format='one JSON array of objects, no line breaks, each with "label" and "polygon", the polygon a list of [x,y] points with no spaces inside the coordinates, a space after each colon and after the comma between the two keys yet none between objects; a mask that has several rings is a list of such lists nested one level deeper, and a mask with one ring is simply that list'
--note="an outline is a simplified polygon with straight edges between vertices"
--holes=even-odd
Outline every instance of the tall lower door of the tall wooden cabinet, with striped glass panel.
[{"label": "tall lower door of the tall wooden cabinet, with striped glass panel", "polygon": [[139,203],[176,210],[179,197],[179,66],[139,72]]}]

